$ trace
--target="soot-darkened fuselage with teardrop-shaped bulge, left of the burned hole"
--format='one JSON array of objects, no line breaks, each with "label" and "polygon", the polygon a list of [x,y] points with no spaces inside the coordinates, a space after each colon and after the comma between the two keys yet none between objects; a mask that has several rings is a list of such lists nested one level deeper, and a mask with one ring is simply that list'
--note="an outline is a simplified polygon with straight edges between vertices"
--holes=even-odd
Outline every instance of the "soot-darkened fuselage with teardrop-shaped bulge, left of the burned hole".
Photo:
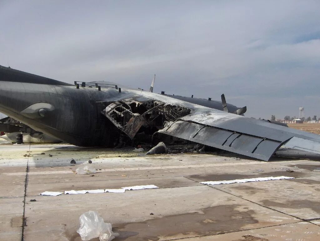
[{"label": "soot-darkened fuselage with teardrop-shaped bulge, left of the burned hole", "polygon": [[[1,68],[5,67],[0,67],[0,71]],[[34,75],[17,70],[1,72],[2,113],[77,146],[113,145],[110,135],[118,131],[100,115],[105,108],[103,102],[99,102],[102,92],[76,89],[71,84],[60,85],[58,81],[51,84],[50,79],[40,76],[34,77],[37,83],[24,82],[25,79],[31,82],[32,77]]]}]

